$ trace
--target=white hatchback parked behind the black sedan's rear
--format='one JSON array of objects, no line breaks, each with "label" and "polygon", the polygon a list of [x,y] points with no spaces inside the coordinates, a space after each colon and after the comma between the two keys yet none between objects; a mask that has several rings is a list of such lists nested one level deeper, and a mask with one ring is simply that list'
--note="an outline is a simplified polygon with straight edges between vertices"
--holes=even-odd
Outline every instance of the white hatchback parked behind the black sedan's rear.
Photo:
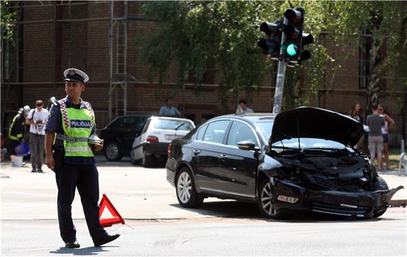
[{"label": "white hatchback parked behind the black sedan's rear", "polygon": [[173,139],[184,137],[194,128],[194,122],[186,118],[148,118],[140,134],[135,135],[130,153],[131,162],[142,162],[144,167],[148,167],[154,157],[168,155],[168,145]]}]

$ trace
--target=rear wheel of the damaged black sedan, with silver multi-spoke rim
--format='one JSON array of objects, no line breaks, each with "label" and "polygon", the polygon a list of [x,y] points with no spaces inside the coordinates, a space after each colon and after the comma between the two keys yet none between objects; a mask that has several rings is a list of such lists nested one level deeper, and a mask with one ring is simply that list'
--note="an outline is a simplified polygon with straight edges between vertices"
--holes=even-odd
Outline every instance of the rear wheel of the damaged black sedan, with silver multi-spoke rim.
[{"label": "rear wheel of the damaged black sedan, with silver multi-spoke rim", "polygon": [[187,167],[183,167],[177,173],[175,179],[175,194],[178,202],[185,208],[199,208],[204,202],[204,198],[196,193],[194,177]]}]

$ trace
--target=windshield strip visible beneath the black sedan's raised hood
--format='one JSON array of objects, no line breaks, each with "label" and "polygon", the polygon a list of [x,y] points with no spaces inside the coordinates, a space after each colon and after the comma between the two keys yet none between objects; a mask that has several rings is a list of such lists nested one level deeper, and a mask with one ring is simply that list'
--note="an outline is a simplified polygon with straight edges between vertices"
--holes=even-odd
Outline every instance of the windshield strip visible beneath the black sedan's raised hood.
[{"label": "windshield strip visible beneath the black sedan's raised hood", "polygon": [[294,149],[344,149],[346,146],[337,141],[301,137],[300,146],[298,146],[298,137],[292,139],[283,139],[272,144],[272,148],[294,148]]}]

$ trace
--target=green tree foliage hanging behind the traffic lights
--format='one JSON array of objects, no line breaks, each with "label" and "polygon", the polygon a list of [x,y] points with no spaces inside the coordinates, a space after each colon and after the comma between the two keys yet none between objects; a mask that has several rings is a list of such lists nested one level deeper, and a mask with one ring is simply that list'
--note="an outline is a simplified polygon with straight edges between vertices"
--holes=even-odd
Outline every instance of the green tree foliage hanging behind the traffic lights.
[{"label": "green tree foliage hanging behind the traffic lights", "polygon": [[[401,77],[394,80],[396,89],[406,90],[404,1],[148,1],[142,11],[154,18],[156,27],[142,34],[137,43],[149,67],[149,80],[157,79],[161,85],[170,67],[176,67],[180,88],[187,74],[196,78],[194,83],[199,88],[205,71],[215,69],[224,106],[234,102],[241,92],[251,95],[276,65],[256,46],[257,40],[264,37],[258,27],[262,22],[281,19],[291,6],[305,8],[305,32],[312,33],[315,42],[307,46],[312,60],[287,70],[284,96],[288,106],[312,102],[319,88],[326,85],[326,74],[333,79],[340,69],[319,35],[327,34],[338,47],[353,40],[353,50],[357,50],[362,28],[373,34],[372,51],[384,45],[387,49],[374,72]],[[304,75],[310,82],[307,96],[301,95],[298,83]]]}]

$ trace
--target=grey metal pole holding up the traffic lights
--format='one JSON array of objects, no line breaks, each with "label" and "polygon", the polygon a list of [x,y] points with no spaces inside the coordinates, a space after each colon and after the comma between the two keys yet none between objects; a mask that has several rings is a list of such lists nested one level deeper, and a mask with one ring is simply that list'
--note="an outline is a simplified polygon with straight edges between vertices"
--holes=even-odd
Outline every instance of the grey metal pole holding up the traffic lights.
[{"label": "grey metal pole holding up the traffic lights", "polygon": [[[288,19],[284,18],[283,25],[288,25]],[[273,113],[279,113],[281,111],[281,102],[283,102],[283,90],[284,90],[284,78],[286,76],[286,62],[284,61],[284,49],[283,43],[286,43],[286,34],[281,32],[281,47],[280,47],[280,59],[279,70],[277,71],[276,92],[274,94],[274,106]]]}]

